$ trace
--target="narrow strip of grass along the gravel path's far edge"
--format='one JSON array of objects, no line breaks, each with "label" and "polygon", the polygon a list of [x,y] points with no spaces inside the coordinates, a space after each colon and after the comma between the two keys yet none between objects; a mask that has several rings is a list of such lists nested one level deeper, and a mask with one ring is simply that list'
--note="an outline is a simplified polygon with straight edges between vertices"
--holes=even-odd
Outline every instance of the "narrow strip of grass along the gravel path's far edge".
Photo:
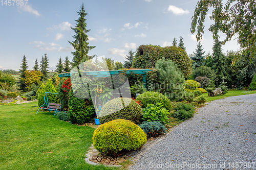
[{"label": "narrow strip of grass along the gravel path's far edge", "polygon": [[256,93],[256,90],[250,91],[250,90],[229,90],[228,93],[224,95],[218,95],[214,97],[209,97],[207,93],[203,93],[203,96],[205,96],[206,102],[214,101],[217,99],[223,99],[230,96],[236,96],[236,95],[245,95],[245,94],[254,94]]}]

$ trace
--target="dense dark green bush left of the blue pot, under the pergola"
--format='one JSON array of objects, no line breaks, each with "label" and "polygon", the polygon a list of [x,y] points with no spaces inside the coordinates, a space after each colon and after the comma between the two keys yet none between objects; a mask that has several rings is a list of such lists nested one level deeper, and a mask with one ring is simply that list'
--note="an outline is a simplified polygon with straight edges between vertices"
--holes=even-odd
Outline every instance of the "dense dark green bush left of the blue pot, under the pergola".
[{"label": "dense dark green bush left of the blue pot, under the pergola", "polygon": [[69,95],[69,119],[79,125],[91,121],[94,115],[94,106],[92,99],[78,99],[74,96],[71,88]]}]

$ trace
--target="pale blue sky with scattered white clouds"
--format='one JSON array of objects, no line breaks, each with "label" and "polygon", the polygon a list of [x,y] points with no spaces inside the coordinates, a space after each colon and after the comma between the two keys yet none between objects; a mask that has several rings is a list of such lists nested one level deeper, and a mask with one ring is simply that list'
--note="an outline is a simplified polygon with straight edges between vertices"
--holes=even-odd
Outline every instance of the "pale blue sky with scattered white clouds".
[{"label": "pale blue sky with scattered white clouds", "polygon": [[[6,3],[5,3],[6,2]],[[123,62],[129,50],[142,44],[172,45],[182,35],[187,54],[197,48],[196,34],[190,33],[196,0],[84,0],[84,1],[0,1],[0,69],[19,70],[23,56],[29,68],[42,56],[49,58],[54,70],[59,58],[71,61],[77,11],[82,3],[87,12],[89,45],[96,46],[89,55],[105,56]],[[23,2],[23,4],[22,4]],[[10,6],[9,6],[10,5]],[[205,20],[202,47],[212,53],[213,39],[208,31],[214,23]],[[224,36],[221,35],[220,40]],[[223,52],[237,51],[237,40],[222,46]]]}]

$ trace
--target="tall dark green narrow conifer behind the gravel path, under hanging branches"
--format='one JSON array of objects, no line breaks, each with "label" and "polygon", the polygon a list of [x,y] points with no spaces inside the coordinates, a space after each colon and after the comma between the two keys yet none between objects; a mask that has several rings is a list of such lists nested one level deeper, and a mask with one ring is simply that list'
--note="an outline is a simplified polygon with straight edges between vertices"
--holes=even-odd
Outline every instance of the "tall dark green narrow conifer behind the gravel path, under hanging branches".
[{"label": "tall dark green narrow conifer behind the gravel path, under hanging branches", "polygon": [[226,72],[226,58],[222,53],[221,43],[218,39],[215,39],[214,42],[214,47],[212,47],[212,59],[209,65],[211,65],[211,69],[214,70],[217,75],[216,85],[218,86],[220,85],[222,77],[228,79],[228,74]]}]

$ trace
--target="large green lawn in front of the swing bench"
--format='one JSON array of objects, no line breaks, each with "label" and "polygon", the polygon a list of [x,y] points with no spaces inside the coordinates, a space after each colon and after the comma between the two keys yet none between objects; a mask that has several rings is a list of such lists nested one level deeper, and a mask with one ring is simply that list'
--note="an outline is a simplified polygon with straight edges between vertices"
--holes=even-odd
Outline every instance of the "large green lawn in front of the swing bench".
[{"label": "large green lawn in front of the swing bench", "polygon": [[93,128],[38,112],[37,102],[0,106],[0,169],[117,169],[89,165]]}]

